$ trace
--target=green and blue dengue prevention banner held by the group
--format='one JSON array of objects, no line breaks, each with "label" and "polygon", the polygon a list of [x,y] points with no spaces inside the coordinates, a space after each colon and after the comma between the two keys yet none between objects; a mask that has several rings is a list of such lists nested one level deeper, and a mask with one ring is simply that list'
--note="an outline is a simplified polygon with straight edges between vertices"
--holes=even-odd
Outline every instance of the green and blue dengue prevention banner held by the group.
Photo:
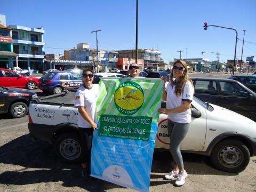
[{"label": "green and blue dengue prevention banner held by the group", "polygon": [[100,79],[92,177],[149,191],[163,86],[158,78]]}]

